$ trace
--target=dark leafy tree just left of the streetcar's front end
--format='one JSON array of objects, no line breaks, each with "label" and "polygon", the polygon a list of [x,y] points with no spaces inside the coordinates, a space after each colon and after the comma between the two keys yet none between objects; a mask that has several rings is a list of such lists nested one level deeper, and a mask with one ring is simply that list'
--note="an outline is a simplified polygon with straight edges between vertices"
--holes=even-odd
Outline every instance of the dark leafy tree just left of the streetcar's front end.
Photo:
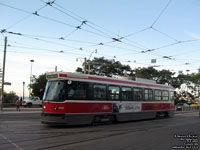
[{"label": "dark leafy tree just left of the streetcar's front end", "polygon": [[31,89],[31,96],[39,96],[42,99],[45,86],[46,86],[46,73],[39,75],[38,77],[33,76],[33,81],[29,84],[29,89]]}]

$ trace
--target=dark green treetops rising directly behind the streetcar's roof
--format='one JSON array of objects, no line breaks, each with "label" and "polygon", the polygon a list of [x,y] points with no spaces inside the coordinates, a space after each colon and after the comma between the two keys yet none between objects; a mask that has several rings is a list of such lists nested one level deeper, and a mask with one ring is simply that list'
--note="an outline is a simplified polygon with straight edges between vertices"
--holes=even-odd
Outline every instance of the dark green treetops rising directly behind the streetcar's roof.
[{"label": "dark green treetops rising directly behind the streetcar's roof", "polygon": [[[180,85],[183,83],[181,78],[175,78],[174,72],[169,70],[156,70],[153,67],[148,68],[137,68],[132,70],[129,65],[123,65],[119,61],[115,61],[114,59],[108,60],[104,57],[94,58],[92,61],[87,61],[86,64],[83,63],[85,66],[86,73],[89,72],[88,68],[90,66],[90,74],[94,75],[104,75],[108,77],[116,76],[128,76],[132,79],[143,78],[149,80],[155,80],[157,83],[160,84],[170,84],[175,88],[179,88]],[[84,73],[84,69],[77,68],[76,72]]]}]

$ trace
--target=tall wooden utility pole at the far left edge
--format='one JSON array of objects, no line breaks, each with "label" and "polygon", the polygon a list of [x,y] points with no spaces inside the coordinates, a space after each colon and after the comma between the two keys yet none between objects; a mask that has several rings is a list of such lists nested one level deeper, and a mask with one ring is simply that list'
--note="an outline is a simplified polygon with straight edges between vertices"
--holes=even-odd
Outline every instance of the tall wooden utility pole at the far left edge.
[{"label": "tall wooden utility pole at the far left edge", "polygon": [[3,111],[3,101],[4,101],[4,77],[5,77],[5,65],[6,65],[6,48],[7,48],[7,37],[4,41],[4,55],[3,55],[3,70],[2,70],[2,82],[1,82],[1,111]]}]

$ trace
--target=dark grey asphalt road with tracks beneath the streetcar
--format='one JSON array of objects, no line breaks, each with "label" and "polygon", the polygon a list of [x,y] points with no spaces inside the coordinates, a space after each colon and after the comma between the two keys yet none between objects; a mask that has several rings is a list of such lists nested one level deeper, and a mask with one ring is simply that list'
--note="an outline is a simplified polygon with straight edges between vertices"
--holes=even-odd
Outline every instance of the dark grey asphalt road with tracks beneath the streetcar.
[{"label": "dark grey asphalt road with tracks beneath the streetcar", "polygon": [[0,113],[1,150],[170,150],[200,149],[197,112],[126,123],[50,127],[40,113]]}]

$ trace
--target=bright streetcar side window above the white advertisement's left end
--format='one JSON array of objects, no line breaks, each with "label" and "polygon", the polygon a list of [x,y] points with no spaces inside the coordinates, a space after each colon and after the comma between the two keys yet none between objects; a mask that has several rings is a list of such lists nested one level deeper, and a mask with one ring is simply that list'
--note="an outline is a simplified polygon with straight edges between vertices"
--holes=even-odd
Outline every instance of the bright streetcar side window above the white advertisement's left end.
[{"label": "bright streetcar side window above the white advertisement's left end", "polygon": [[119,100],[119,91],[118,86],[108,86],[108,98],[109,100]]}]

